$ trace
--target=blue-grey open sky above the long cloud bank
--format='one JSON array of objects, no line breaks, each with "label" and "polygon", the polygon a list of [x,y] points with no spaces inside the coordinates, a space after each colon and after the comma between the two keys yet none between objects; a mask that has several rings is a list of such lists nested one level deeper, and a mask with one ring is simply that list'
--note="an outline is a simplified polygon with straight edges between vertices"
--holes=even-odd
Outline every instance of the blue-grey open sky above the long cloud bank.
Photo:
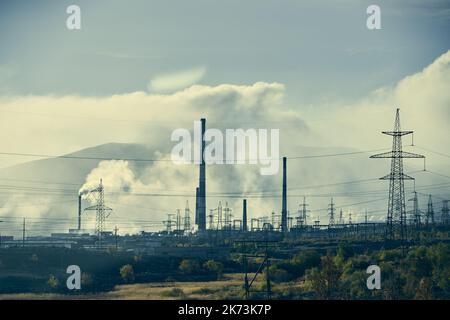
[{"label": "blue-grey open sky above the long cloud bank", "polygon": [[[65,26],[70,4],[79,31]],[[370,4],[2,0],[0,92],[105,96],[191,72],[208,85],[282,82],[288,102],[314,105],[362,97],[447,51],[449,1],[378,1],[376,31]]]}]

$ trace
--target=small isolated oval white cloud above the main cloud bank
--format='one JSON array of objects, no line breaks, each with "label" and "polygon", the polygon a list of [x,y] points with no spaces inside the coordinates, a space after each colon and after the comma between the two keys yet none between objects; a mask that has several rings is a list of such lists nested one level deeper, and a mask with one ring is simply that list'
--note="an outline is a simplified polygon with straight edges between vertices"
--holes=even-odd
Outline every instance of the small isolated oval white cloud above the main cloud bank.
[{"label": "small isolated oval white cloud above the main cloud bank", "polygon": [[148,89],[151,92],[174,92],[199,82],[205,74],[206,68],[199,67],[157,75],[151,79]]}]

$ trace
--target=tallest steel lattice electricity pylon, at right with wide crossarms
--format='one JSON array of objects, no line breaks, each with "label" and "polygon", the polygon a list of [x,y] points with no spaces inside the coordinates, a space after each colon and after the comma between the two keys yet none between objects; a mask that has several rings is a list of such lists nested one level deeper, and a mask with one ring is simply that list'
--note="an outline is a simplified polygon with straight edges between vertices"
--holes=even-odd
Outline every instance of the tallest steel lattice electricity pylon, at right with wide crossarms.
[{"label": "tallest steel lattice electricity pylon, at right with wide crossarms", "polygon": [[386,218],[386,239],[404,240],[406,233],[406,206],[405,206],[405,180],[414,180],[403,173],[404,158],[425,158],[423,155],[402,151],[402,136],[412,134],[413,131],[401,131],[400,109],[397,109],[394,131],[383,131],[383,134],[392,136],[392,150],[371,156],[373,159],[391,159],[391,173],[380,178],[389,180],[389,200]]}]

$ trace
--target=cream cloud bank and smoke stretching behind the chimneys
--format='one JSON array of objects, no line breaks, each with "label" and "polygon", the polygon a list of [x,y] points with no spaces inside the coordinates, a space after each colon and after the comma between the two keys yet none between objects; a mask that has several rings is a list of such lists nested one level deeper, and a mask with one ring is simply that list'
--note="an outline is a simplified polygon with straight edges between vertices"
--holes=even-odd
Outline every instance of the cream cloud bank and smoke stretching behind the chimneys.
[{"label": "cream cloud bank and smoke stretching behind the chimneys", "polygon": [[[0,149],[12,152],[61,154],[86,146],[107,142],[144,142],[151,147],[149,158],[166,157],[171,147],[170,133],[184,127],[192,129],[193,121],[207,118],[208,127],[280,128],[281,153],[288,156],[322,153],[321,146],[345,146],[356,149],[389,148],[391,140],[381,134],[391,130],[395,108],[401,109],[402,127],[415,131],[415,141],[431,149],[450,152],[450,51],[424,70],[404,78],[392,87],[373,92],[365,99],[335,108],[318,108],[321,121],[305,124],[302,108],[293,109],[283,102],[285,87],[280,83],[258,82],[253,85],[194,85],[173,94],[134,92],[110,97],[28,96],[0,99]],[[244,125],[245,124],[245,125]],[[405,140],[405,145],[407,141]],[[315,146],[305,149],[302,146]],[[306,151],[305,151],[306,150]],[[340,149],[336,149],[339,152]],[[419,150],[411,150],[420,152]],[[444,160],[428,154],[431,168]],[[447,163],[447,162],[445,162]],[[420,167],[421,163],[414,161]],[[370,170],[367,168],[370,167]],[[321,195],[308,199],[312,216],[327,221],[326,209],[331,196],[343,192],[378,190],[370,199],[386,197],[387,185],[373,181],[364,185],[344,185],[305,189],[304,186],[375,178],[387,173],[388,161],[358,157],[300,159],[288,161],[291,213],[297,211],[303,194]],[[280,189],[281,176],[261,177],[258,166],[208,167],[209,191],[259,191]],[[108,175],[109,172],[109,175]],[[186,200],[194,207],[193,192],[197,184],[195,166],[174,166],[157,162],[134,175],[129,164],[118,162],[99,166],[88,182],[95,185],[105,177],[105,187],[131,188],[145,192],[182,192],[179,197],[136,198],[108,195],[117,217],[164,220],[166,213],[183,208]],[[92,178],[92,179],[91,179]],[[418,177],[417,185],[430,180]],[[441,181],[442,182],[442,181]],[[447,182],[447,181],[445,181]],[[439,192],[446,192],[447,189]],[[251,217],[279,212],[278,193],[274,197],[249,198]],[[115,198],[114,198],[115,197]],[[108,200],[109,199],[109,200]],[[235,217],[241,210],[238,198],[208,198],[208,209],[218,201],[228,201]],[[364,201],[367,198],[335,197],[337,206]],[[8,202],[11,205],[11,201]],[[155,207],[166,211],[145,211],[134,207]],[[383,219],[386,201],[344,208],[352,211],[354,221],[368,208],[372,219]],[[374,213],[374,211],[379,212]],[[64,211],[59,211],[64,212]],[[67,212],[73,212],[67,210]],[[23,214],[23,212],[21,212]],[[45,214],[39,212],[39,214]],[[120,226],[119,226],[120,227]],[[161,226],[159,226],[161,228]]]}]

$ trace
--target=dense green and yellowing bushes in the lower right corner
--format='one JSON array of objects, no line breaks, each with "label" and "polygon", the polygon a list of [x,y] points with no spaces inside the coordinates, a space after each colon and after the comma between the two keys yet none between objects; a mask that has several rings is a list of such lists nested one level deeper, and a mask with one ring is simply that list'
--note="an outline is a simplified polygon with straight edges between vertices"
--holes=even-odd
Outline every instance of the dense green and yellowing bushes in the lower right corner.
[{"label": "dense green and yellowing bushes in the lower right corner", "polygon": [[[316,253],[309,253],[310,257]],[[354,254],[340,247],[320,258],[274,264],[271,270],[279,298],[312,299],[449,299],[450,246],[416,246]],[[308,264],[308,267],[305,267]],[[368,290],[366,269],[381,268],[381,289]],[[302,275],[302,271],[305,270]],[[296,270],[292,272],[292,270]],[[299,271],[301,270],[301,271]],[[283,272],[282,272],[283,271]],[[279,279],[281,275],[282,279]],[[286,286],[286,282],[290,283]],[[277,291],[277,283],[279,285]],[[295,289],[295,290],[294,290]]]}]

